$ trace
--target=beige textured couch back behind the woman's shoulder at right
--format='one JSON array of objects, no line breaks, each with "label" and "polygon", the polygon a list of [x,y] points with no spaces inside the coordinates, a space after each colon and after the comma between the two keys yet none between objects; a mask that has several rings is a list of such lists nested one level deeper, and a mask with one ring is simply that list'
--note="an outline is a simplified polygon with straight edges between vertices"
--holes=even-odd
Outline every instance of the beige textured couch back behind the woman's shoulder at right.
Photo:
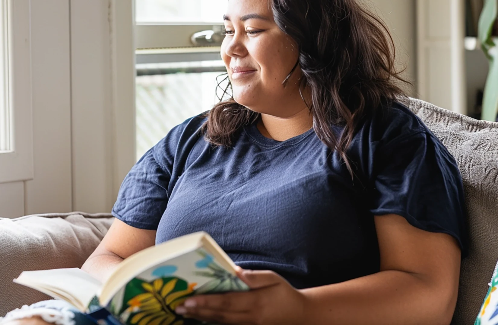
[{"label": "beige textured couch back behind the woman's shoulder at right", "polygon": [[455,157],[470,233],[452,324],[474,324],[498,259],[498,123],[477,121],[417,99],[405,101]]}]

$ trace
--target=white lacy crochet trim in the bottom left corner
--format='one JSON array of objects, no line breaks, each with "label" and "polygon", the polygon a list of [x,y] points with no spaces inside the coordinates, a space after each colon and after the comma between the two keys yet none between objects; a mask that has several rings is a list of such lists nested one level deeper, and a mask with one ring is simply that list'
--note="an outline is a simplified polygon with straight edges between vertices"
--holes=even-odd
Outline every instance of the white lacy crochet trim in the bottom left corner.
[{"label": "white lacy crochet trim in the bottom left corner", "polygon": [[11,312],[8,312],[5,317],[0,317],[0,325],[4,322],[20,320],[23,318],[31,318],[39,316],[47,323],[54,323],[56,325],[75,325],[74,313],[70,310],[56,310],[45,307],[33,307],[24,305]]}]

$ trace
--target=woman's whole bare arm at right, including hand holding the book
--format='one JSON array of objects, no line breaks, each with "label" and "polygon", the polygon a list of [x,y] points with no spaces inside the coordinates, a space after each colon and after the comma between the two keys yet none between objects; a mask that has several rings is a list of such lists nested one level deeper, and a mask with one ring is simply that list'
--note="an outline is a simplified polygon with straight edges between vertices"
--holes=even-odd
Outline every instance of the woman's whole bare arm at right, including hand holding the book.
[{"label": "woman's whole bare arm at right, including hand holding the book", "polygon": [[193,297],[177,311],[233,325],[450,324],[460,274],[456,240],[397,215],[375,217],[375,227],[378,273],[296,290],[273,272],[241,270],[253,290]]}]

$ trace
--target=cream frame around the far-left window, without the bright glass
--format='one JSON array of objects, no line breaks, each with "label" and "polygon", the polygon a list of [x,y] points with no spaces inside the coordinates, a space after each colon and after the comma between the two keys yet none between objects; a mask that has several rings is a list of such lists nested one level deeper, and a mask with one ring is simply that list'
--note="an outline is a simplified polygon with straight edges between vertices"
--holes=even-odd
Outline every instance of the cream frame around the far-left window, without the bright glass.
[{"label": "cream frame around the far-left window, without the bright glass", "polygon": [[8,10],[10,148],[0,153],[0,183],[33,179],[30,1],[5,0]]}]

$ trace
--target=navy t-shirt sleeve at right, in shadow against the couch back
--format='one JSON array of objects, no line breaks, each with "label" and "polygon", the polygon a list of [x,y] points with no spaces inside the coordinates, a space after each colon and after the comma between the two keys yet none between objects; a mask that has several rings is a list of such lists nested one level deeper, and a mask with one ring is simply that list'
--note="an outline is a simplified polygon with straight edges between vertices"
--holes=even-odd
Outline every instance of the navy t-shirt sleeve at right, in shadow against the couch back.
[{"label": "navy t-shirt sleeve at right, in shadow against the couch back", "polygon": [[428,131],[388,141],[373,157],[371,212],[453,236],[465,254],[464,189],[455,159]]}]

